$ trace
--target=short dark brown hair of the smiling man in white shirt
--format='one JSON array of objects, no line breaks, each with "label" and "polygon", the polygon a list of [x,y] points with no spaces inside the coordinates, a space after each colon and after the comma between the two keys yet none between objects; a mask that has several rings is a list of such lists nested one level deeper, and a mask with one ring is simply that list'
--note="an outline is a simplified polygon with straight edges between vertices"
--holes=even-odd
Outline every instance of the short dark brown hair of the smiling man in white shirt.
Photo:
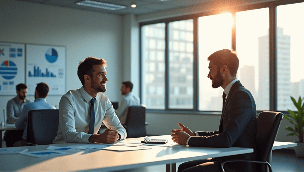
[{"label": "short dark brown hair of the smiling man in white shirt", "polygon": [[77,75],[82,85],[85,84],[85,78],[83,76],[89,75],[92,77],[92,74],[94,72],[93,66],[97,64],[107,66],[107,61],[105,59],[98,59],[96,57],[87,57],[79,63]]}]

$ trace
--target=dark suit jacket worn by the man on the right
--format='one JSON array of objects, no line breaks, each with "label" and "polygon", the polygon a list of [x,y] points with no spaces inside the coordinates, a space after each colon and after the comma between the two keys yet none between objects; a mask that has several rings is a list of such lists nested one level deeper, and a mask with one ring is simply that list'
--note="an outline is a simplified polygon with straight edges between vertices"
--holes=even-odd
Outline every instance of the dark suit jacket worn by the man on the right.
[{"label": "dark suit jacket worn by the man on the right", "polygon": [[[240,81],[235,82],[223,107],[219,130],[198,132],[199,137],[191,137],[189,146],[229,148],[253,148],[254,153],[216,158],[219,163],[232,159],[256,160],[257,117],[254,98]],[[227,168],[226,168],[227,167]],[[228,171],[254,171],[251,163],[225,164]]]}]

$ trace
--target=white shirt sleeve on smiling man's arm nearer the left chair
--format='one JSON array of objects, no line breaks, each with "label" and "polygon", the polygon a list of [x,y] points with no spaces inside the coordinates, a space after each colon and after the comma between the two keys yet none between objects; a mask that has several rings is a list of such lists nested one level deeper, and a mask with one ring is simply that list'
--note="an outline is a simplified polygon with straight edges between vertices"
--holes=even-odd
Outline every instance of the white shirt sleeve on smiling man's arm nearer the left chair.
[{"label": "white shirt sleeve on smiling man's arm nearer the left chair", "polygon": [[66,96],[62,96],[59,102],[59,124],[66,143],[90,143],[92,134],[76,132],[73,104]]}]

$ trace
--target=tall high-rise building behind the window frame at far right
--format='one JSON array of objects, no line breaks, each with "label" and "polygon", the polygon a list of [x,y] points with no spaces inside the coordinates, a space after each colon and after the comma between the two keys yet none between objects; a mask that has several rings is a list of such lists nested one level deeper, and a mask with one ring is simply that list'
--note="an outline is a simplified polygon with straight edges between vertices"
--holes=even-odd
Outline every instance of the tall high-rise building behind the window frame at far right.
[{"label": "tall high-rise building behind the window frame at far right", "polygon": [[[277,107],[287,110],[291,107],[290,82],[290,36],[277,27]],[[259,91],[258,104],[261,109],[269,109],[269,29],[268,35],[259,39]]]}]

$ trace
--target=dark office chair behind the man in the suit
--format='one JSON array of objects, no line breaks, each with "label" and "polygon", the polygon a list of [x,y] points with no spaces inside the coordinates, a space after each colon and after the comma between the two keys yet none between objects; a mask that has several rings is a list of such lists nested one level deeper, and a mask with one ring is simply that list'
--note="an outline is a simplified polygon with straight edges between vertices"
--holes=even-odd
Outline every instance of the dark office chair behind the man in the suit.
[{"label": "dark office chair behind the man in the suit", "polygon": [[225,163],[228,162],[251,162],[256,163],[256,171],[267,171],[267,166],[271,172],[271,165],[268,162],[275,138],[277,137],[280,124],[283,119],[281,112],[261,112],[257,116],[257,160],[229,160],[221,164],[224,170]]}]

